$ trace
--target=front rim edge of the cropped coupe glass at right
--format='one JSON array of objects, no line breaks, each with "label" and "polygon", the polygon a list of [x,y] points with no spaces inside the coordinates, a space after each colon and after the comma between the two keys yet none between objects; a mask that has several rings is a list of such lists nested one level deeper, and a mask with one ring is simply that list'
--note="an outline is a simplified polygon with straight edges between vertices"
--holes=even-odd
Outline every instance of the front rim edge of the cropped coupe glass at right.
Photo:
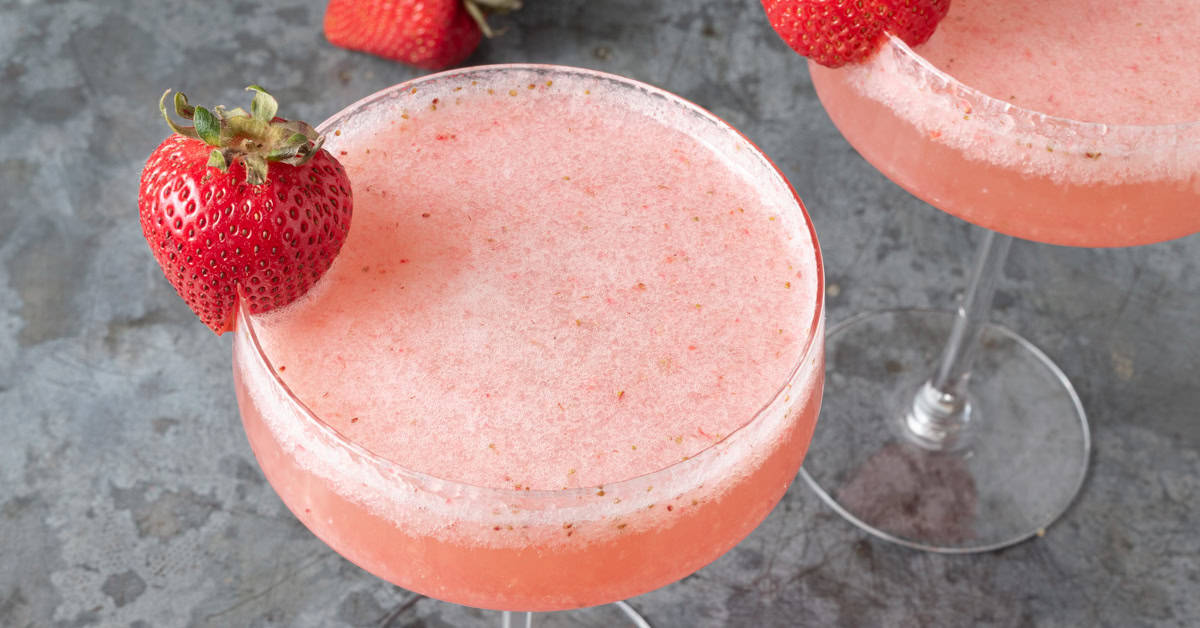
[{"label": "front rim edge of the cropped coupe glass at right", "polygon": [[[1130,133],[1130,132],[1142,132],[1151,136],[1166,134],[1177,137],[1182,132],[1200,132],[1200,116],[1195,120],[1188,120],[1182,122],[1160,122],[1160,124],[1124,124],[1124,122],[1092,122],[1085,120],[1076,120],[1073,118],[1067,118],[1064,115],[1055,115],[1038,109],[1031,109],[1028,107],[1022,107],[1020,104],[1013,104],[1008,101],[1003,101],[996,96],[992,96],[978,88],[967,85],[966,83],[959,80],[953,74],[946,72],[944,70],[935,66],[928,59],[925,59],[920,53],[918,53],[912,46],[905,43],[900,37],[888,34],[887,41],[883,47],[890,49],[894,54],[898,54],[902,59],[913,62],[920,68],[920,71],[940,82],[943,82],[950,90],[955,94],[962,94],[977,100],[979,103],[995,108],[996,110],[1004,112],[1009,115],[1016,115],[1027,119],[1039,119],[1049,122],[1052,126],[1076,128],[1087,133],[1108,134],[1108,133]],[[883,54],[884,49],[881,48],[875,54]],[[871,59],[875,59],[872,56]],[[871,62],[868,59],[866,62]],[[810,61],[811,62],[811,61]]]}]

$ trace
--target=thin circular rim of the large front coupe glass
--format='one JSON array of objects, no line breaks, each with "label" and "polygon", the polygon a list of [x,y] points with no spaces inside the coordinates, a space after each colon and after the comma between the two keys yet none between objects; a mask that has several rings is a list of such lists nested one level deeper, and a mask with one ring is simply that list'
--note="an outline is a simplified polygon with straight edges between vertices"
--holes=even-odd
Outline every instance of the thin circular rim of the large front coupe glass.
[{"label": "thin circular rim of the large front coupe glass", "polygon": [[[816,293],[815,293],[816,306],[812,310],[812,317],[808,325],[808,337],[804,341],[804,347],[799,352],[794,364],[792,364],[791,369],[787,371],[787,376],[775,389],[775,391],[770,395],[770,397],[767,399],[750,415],[748,420],[740,424],[737,429],[730,431],[730,433],[725,435],[725,437],[722,437],[721,439],[709,443],[708,445],[695,451],[684,460],[671,462],[670,465],[656,468],[654,471],[640,473],[637,476],[630,476],[628,478],[622,478],[619,480],[613,480],[605,484],[575,486],[569,489],[506,489],[497,486],[481,486],[479,484],[442,478],[434,474],[406,467],[404,465],[401,465],[394,460],[390,460],[383,455],[377,454],[376,451],[371,450],[367,447],[364,447],[362,444],[347,437],[344,433],[342,433],[340,430],[337,430],[329,423],[325,423],[325,420],[322,419],[311,407],[308,407],[308,405],[305,403],[292,390],[292,388],[287,384],[287,382],[284,382],[283,378],[280,376],[278,370],[275,367],[274,363],[271,361],[271,358],[266,354],[266,351],[263,348],[262,343],[258,340],[258,333],[254,330],[254,325],[252,323],[252,316],[248,310],[248,304],[246,299],[241,298],[238,299],[238,312],[235,317],[234,334],[238,336],[242,335],[244,333],[247,334],[246,340],[248,341],[250,347],[252,349],[251,352],[253,354],[252,359],[254,359],[260,367],[265,369],[266,372],[270,373],[271,385],[276,387],[280,391],[282,391],[287,403],[293,406],[296,411],[299,411],[299,415],[302,417],[305,420],[307,420],[313,427],[319,430],[325,436],[332,438],[338,447],[344,448],[348,451],[358,456],[361,456],[365,460],[368,460],[373,465],[378,465],[379,467],[388,469],[391,473],[396,473],[420,485],[430,486],[436,484],[443,486],[443,489],[438,490],[445,490],[444,488],[449,486],[464,490],[475,495],[493,496],[498,498],[545,500],[553,497],[560,500],[563,497],[572,497],[576,495],[590,496],[594,495],[596,490],[601,489],[606,491],[619,490],[622,486],[637,484],[641,480],[646,480],[649,478],[658,478],[661,477],[662,474],[666,474],[668,472],[679,468],[685,468],[703,463],[714,454],[714,451],[720,445],[744,433],[751,425],[757,424],[778,402],[780,402],[780,400],[782,400],[787,395],[788,388],[797,379],[797,377],[802,375],[805,364],[811,359],[814,352],[818,351],[821,342],[824,339],[823,334],[821,333],[822,322],[824,319],[824,310],[826,310],[824,261],[821,255],[821,246],[817,240],[817,233],[812,223],[812,217],[809,215],[809,211],[805,208],[804,202],[800,198],[799,193],[797,193],[794,186],[792,186],[791,181],[779,168],[779,166],[775,165],[775,162],[770,160],[770,157],[768,157],[767,154],[757,144],[755,144],[749,137],[738,131],[736,127],[733,127],[718,115],[713,114],[708,109],[682,96],[672,94],[665,89],[650,85],[648,83],[637,79],[608,72],[602,72],[598,70],[590,70],[576,66],[565,66],[565,65],[551,65],[551,64],[491,64],[491,65],[460,67],[454,70],[446,70],[443,72],[424,74],[420,77],[415,77],[397,83],[389,88],[380,89],[366,97],[359,98],[358,101],[342,108],[341,110],[338,110],[334,115],[330,115],[328,119],[320,122],[317,126],[317,131],[324,134],[324,132],[329,131],[331,126],[338,124],[346,116],[354,114],[360,109],[370,107],[378,101],[385,100],[400,91],[409,90],[421,84],[426,84],[433,80],[452,79],[460,74],[481,74],[487,72],[504,72],[504,71],[542,71],[542,72],[560,72],[566,74],[576,74],[582,77],[611,80],[613,83],[624,84],[629,88],[638,89],[649,92],[652,95],[664,97],[668,102],[672,102],[684,109],[689,109],[692,113],[698,114],[704,119],[708,119],[710,122],[715,124],[715,126],[722,128],[725,132],[733,133],[733,136],[740,142],[743,142],[746,145],[746,148],[752,149],[754,151],[752,154],[758,160],[762,160],[762,162],[768,167],[768,171],[775,178],[778,178],[778,181],[775,183],[786,186],[787,192],[791,193],[792,202],[794,202],[794,209],[798,210],[800,217],[803,217],[803,227],[808,231],[809,238],[812,244],[814,269],[815,269],[814,281],[816,283]],[[790,207],[788,209],[793,208]],[[820,369],[820,365],[817,366],[817,369]]]}]

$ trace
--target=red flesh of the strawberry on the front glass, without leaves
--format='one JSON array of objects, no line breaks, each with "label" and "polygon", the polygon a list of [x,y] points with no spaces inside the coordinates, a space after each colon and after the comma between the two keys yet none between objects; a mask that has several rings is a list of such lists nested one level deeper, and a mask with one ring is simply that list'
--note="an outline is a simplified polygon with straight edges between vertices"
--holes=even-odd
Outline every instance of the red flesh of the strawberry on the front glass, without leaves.
[{"label": "red flesh of the strawberry on the front glass, without leaves", "polygon": [[302,166],[271,163],[245,183],[235,161],[208,167],[212,146],[173,134],[146,160],[142,233],[179,295],[212,331],[233,329],[241,293],[254,312],[295,300],[329,269],[350,227],[346,169],[319,150]]}]

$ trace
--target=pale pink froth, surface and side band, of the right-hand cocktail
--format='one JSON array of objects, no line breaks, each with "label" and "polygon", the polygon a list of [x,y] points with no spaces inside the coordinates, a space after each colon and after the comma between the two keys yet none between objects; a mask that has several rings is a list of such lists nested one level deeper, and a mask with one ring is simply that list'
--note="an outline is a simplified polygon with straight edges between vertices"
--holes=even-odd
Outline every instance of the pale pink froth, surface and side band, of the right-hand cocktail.
[{"label": "pale pink froth, surface and side band, of the right-hand cocktail", "polygon": [[[1061,10],[1063,2],[1034,4],[955,2],[935,36],[916,53],[893,41],[866,64],[839,71],[860,94],[972,160],[1079,185],[1193,177],[1200,168],[1200,85],[1194,80],[1183,85],[1172,78],[1183,70],[1171,61],[1175,52],[1166,54],[1169,44],[1159,43],[1164,54],[1139,55],[1142,61],[1136,71],[1115,64],[1112,55],[1120,52],[1093,54],[1087,46],[1117,50],[1140,46],[1140,40],[1105,37],[1103,32],[1151,26],[1103,22],[1128,19],[1132,13],[1127,11],[1080,8],[1076,16],[1086,14],[1087,19],[1070,25],[1074,35],[1068,48],[1075,54],[1066,60],[1054,58],[1044,49],[1052,31],[1024,19],[1046,7]],[[1186,5],[1172,19],[1190,19],[1187,32],[1194,34],[1200,26],[1200,5]],[[1012,19],[995,19],[997,12]],[[1022,38],[1026,25],[1033,30],[1028,41]],[[1170,31],[1180,32],[1178,28]],[[1200,38],[1190,36],[1188,46],[1200,48]],[[1028,47],[1042,52],[1031,53]],[[1200,49],[1189,59],[1195,55]],[[1058,68],[1066,78],[1045,71],[1054,64],[1067,64],[1067,70]],[[936,70],[938,66],[954,77]],[[1154,86],[1164,82],[1165,91]],[[1153,102],[1147,101],[1151,92]],[[1073,108],[1076,102],[1079,108]],[[1060,118],[1064,115],[1088,122]],[[1178,124],[1139,126],[1147,121]]]}]

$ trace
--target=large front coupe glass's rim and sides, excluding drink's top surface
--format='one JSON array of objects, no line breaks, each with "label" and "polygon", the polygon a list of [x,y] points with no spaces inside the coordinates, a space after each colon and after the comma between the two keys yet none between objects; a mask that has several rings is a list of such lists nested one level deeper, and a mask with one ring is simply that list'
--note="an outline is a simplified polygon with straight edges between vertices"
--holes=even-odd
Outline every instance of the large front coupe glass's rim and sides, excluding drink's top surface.
[{"label": "large front coupe glass's rim and sides, excluding drink's top surface", "polygon": [[728,148],[733,167],[784,208],[780,219],[797,241],[811,243],[814,315],[798,323],[805,330],[802,354],[787,377],[772,384],[773,397],[715,444],[653,473],[563,490],[470,485],[406,468],[324,421],[281,379],[259,342],[259,323],[241,309],[233,349],[238,402],[254,455],[283,502],[317,537],[367,572],[439,600],[505,611],[505,626],[514,621],[511,611],[610,603],[618,603],[635,626],[646,626],[618,600],[674,582],[718,558],[767,516],[797,474],[824,372],[816,235],[791,185],[745,137],[695,104],[614,76],[554,66],[451,71],[370,96],[319,130],[336,154],[354,132],[348,122],[355,116],[418,92],[476,84],[505,85],[508,91],[512,76],[528,82],[530,72],[539,84],[552,80],[556,86],[601,82],[622,98],[652,102],[655,115],[684,125],[701,142]]}]

